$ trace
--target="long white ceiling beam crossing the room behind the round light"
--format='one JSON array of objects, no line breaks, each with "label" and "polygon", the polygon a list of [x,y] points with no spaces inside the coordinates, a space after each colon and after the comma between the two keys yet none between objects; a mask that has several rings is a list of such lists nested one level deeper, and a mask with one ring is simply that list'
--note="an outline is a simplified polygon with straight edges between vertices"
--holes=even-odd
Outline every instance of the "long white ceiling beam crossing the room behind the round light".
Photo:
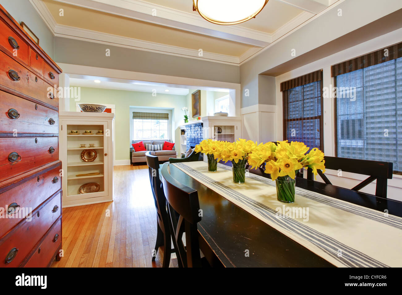
[{"label": "long white ceiling beam crossing the room behind the round light", "polygon": [[[204,20],[198,14],[183,12],[141,0],[55,1],[258,47],[265,47],[271,43],[271,34],[269,33],[241,26],[213,24]],[[189,1],[189,10],[192,10],[191,1]],[[155,13],[156,16],[153,15]]]}]

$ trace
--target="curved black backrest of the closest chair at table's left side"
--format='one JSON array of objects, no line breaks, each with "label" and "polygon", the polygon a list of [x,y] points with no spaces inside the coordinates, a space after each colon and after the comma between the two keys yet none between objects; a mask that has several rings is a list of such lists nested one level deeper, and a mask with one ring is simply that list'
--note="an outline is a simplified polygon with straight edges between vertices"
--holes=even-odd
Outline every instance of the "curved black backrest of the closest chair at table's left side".
[{"label": "curved black backrest of the closest chair at table's left side", "polygon": [[[195,189],[176,181],[170,175],[168,164],[162,166],[162,183],[168,201],[172,236],[183,267],[201,267],[197,229],[197,223],[201,221],[198,193]],[[186,246],[182,240],[183,233],[186,236]]]}]

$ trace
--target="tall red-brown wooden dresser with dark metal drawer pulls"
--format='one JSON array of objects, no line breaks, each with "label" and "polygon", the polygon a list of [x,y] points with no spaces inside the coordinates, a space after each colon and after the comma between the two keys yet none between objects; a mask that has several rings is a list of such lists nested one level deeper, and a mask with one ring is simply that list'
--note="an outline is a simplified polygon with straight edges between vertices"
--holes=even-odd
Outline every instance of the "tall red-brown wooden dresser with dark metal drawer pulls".
[{"label": "tall red-brown wooden dresser with dark metal drawer pulls", "polygon": [[62,256],[61,72],[0,5],[0,267]]}]

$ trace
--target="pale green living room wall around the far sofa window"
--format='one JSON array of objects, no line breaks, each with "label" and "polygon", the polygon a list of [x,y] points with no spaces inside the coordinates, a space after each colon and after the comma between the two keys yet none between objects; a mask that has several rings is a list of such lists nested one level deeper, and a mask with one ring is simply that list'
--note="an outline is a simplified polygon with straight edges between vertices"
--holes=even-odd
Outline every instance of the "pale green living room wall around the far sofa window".
[{"label": "pale green living room wall around the far sofa window", "polygon": [[[186,96],[171,94],[152,96],[152,93],[148,92],[81,87],[80,103],[116,105],[115,145],[117,161],[130,158],[130,119],[132,118],[130,116],[130,107],[133,106],[172,109],[172,128],[174,129],[174,141],[177,143],[176,150],[180,145],[180,130],[178,130],[178,126],[184,122],[183,112],[180,109],[186,105]],[[70,100],[70,111],[74,112],[75,110],[76,102]]]}]

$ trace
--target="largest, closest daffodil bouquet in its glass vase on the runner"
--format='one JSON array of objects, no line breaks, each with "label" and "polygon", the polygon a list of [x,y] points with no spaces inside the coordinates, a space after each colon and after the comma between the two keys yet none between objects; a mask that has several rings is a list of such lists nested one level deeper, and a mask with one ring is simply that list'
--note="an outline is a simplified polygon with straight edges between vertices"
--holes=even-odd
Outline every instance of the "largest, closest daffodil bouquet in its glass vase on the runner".
[{"label": "largest, closest daffodil bouquet in its glass vase on the runner", "polygon": [[276,180],[277,197],[279,201],[294,202],[295,177],[297,171],[304,167],[325,171],[324,153],[317,148],[311,149],[303,142],[278,141],[260,143],[248,157],[248,164],[257,169],[265,163],[265,173],[271,174]]}]

